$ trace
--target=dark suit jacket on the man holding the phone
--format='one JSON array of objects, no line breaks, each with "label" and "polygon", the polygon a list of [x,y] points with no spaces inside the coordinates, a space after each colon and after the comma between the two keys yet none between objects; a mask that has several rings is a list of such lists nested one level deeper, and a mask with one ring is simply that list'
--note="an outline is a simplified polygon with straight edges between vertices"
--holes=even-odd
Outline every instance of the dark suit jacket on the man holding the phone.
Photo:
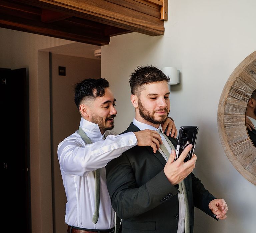
[{"label": "dark suit jacket on the man holding the phone", "polygon": [[[131,123],[123,133],[135,131],[139,129]],[[177,139],[169,139],[176,147]],[[177,233],[179,191],[166,178],[163,171],[165,164],[161,153],[154,153],[150,146],[135,146],[107,164],[107,187],[112,207],[122,218],[123,233]],[[192,233],[194,206],[214,217],[208,204],[215,197],[193,173],[184,181]]]}]

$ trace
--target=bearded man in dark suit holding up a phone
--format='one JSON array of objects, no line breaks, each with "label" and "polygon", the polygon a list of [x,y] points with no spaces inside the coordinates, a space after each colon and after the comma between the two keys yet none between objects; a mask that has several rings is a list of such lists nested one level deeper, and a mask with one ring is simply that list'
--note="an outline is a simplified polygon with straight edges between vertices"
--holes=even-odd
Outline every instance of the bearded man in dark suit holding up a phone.
[{"label": "bearded man in dark suit holding up a phone", "polygon": [[138,67],[130,78],[136,116],[125,132],[154,129],[164,147],[153,153],[149,146],[135,146],[106,166],[111,204],[122,218],[123,233],[192,233],[194,206],[226,218],[226,202],[211,195],[192,173],[196,155],[183,161],[192,145],[173,162],[177,139],[163,135],[161,128],[170,111],[168,80],[152,66]]}]

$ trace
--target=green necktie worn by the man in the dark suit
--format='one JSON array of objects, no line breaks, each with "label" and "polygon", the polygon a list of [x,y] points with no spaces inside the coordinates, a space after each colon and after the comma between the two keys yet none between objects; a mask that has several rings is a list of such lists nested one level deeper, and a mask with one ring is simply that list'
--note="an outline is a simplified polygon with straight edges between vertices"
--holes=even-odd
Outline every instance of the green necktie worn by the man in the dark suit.
[{"label": "green necktie worn by the man in the dark suit", "polygon": [[[160,133],[162,133],[162,131],[160,131]],[[172,142],[169,140],[169,138],[165,135],[164,138],[166,139],[166,141],[168,142],[168,144],[170,145],[171,149],[173,149],[175,151],[175,147],[172,144]],[[167,159],[169,159],[170,153],[169,151],[166,149],[164,144],[160,144],[160,149],[163,151],[163,153],[165,154],[165,156],[167,157]],[[190,232],[190,216],[189,216],[189,208],[188,208],[188,195],[187,195],[187,190],[185,188],[185,182],[184,180],[182,180],[179,183],[179,191],[182,192],[183,191],[183,195],[184,195],[184,201],[185,201],[185,233],[189,233]]]}]

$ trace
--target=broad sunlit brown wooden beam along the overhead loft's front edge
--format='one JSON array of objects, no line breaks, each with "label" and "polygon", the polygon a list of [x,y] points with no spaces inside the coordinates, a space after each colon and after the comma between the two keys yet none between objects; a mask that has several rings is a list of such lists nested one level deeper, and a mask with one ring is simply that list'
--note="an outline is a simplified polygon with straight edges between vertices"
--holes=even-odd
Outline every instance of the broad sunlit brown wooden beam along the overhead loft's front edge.
[{"label": "broad sunlit brown wooden beam along the overhead loft's front edge", "polygon": [[[129,31],[156,36],[164,34],[164,24],[159,17],[138,12],[134,4],[147,5],[147,1],[133,1],[132,7],[118,5],[111,0],[21,0],[30,5],[48,8],[53,11],[77,16],[79,18],[123,28]],[[119,1],[118,1],[119,2]],[[151,4],[151,3],[150,3]],[[140,6],[140,5],[139,5]],[[157,6],[160,12],[160,5]]]}]

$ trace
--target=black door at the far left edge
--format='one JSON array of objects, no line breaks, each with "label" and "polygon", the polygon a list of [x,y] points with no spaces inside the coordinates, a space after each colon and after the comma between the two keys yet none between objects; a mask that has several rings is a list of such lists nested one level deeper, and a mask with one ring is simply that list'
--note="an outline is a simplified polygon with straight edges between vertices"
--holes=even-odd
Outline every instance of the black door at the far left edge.
[{"label": "black door at the far left edge", "polygon": [[[25,68],[0,68],[0,96],[1,228],[30,232],[29,112]],[[7,229],[1,231],[7,232]]]}]

